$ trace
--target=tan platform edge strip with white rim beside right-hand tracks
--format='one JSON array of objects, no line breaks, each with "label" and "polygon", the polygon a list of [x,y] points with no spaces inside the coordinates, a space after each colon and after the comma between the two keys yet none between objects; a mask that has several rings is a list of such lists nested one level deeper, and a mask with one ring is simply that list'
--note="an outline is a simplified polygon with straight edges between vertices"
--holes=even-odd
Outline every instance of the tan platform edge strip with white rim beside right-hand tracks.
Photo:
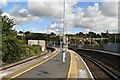
[{"label": "tan platform edge strip with white rim beside right-hand tracks", "polygon": [[71,62],[67,79],[93,80],[92,73],[80,55],[72,50],[69,50],[69,53],[71,56]]}]

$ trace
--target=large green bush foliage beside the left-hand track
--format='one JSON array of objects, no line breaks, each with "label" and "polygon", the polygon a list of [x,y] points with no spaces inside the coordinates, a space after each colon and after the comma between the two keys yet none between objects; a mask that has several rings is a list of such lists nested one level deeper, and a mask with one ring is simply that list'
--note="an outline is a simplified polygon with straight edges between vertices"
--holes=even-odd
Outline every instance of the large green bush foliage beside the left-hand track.
[{"label": "large green bush foliage beside the left-hand track", "polygon": [[0,31],[2,32],[2,61],[13,63],[22,58],[41,53],[40,46],[28,46],[24,40],[17,38],[17,32],[13,30],[14,21],[0,13]]}]

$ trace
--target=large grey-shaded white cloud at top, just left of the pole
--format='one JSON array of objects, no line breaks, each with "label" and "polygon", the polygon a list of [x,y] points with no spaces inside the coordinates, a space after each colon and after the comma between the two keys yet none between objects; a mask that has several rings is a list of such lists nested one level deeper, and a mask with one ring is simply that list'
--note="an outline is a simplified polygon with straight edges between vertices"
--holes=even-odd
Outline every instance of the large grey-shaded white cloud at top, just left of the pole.
[{"label": "large grey-shaded white cloud at top, just left of the pole", "polygon": [[[35,5],[33,5],[35,4]],[[63,13],[63,7],[60,2],[28,2],[28,9],[35,16],[49,17],[49,18],[61,18]]]}]

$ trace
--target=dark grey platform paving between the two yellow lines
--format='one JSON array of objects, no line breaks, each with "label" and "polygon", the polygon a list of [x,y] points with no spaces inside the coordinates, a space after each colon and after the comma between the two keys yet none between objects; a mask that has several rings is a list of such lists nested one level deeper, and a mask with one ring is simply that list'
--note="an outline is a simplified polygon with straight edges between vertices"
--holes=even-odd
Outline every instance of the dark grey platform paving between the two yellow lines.
[{"label": "dark grey platform paving between the two yellow lines", "polygon": [[70,65],[70,54],[66,54],[65,63],[62,62],[62,52],[47,62],[21,74],[12,80],[44,80],[66,79]]}]

